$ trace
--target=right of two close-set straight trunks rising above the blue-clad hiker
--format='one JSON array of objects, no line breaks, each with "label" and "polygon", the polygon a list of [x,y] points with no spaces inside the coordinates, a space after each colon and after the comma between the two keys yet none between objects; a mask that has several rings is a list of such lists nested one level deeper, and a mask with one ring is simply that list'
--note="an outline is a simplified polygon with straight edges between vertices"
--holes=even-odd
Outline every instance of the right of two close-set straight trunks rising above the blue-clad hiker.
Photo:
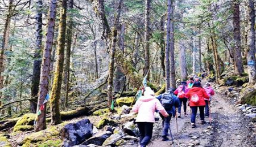
[{"label": "right of two close-set straight trunks rising above the blue-clad hiker", "polygon": [[176,88],[175,58],[174,58],[174,0],[171,1],[171,28],[170,28],[170,87]]}]

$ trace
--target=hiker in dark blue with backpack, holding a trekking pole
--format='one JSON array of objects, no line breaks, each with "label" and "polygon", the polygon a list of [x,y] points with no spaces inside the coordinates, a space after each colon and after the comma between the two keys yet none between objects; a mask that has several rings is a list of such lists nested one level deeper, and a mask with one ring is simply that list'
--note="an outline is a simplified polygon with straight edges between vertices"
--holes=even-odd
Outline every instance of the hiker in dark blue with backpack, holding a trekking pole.
[{"label": "hiker in dark blue with backpack, holding a trekking pole", "polygon": [[[168,130],[170,128],[170,121],[172,116],[175,116],[176,109],[175,107],[179,107],[179,100],[174,94],[174,88],[169,88],[166,93],[160,94],[156,98],[162,103],[164,109],[168,113],[168,117],[164,118],[163,115],[160,114],[163,119],[163,131],[162,131],[162,141],[167,141],[168,139]],[[170,101],[169,101],[170,100]],[[170,132],[171,133],[171,132]]]}]

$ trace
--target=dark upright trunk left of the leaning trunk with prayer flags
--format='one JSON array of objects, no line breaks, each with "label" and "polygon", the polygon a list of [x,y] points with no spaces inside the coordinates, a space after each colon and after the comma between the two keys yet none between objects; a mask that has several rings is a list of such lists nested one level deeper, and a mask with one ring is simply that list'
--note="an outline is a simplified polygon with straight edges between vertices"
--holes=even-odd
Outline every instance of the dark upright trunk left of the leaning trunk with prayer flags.
[{"label": "dark upright trunk left of the leaning trunk with prayer flags", "polygon": [[38,100],[38,91],[40,83],[40,67],[42,63],[41,50],[42,50],[42,23],[43,23],[43,1],[37,1],[36,7],[36,47],[34,54],[34,64],[33,64],[33,76],[32,76],[32,87],[31,87],[31,97],[34,101],[30,101],[30,111],[31,113],[36,113],[36,105]]}]

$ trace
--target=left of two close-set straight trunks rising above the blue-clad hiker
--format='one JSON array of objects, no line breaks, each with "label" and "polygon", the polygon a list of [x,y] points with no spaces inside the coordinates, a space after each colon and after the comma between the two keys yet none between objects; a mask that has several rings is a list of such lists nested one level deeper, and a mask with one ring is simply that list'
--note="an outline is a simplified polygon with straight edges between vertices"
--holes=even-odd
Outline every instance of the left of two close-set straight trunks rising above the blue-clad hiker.
[{"label": "left of two close-set straight trunks rising above the blue-clad hiker", "polygon": [[167,2],[167,24],[166,24],[166,91],[170,88],[170,33],[171,33],[171,0]]}]

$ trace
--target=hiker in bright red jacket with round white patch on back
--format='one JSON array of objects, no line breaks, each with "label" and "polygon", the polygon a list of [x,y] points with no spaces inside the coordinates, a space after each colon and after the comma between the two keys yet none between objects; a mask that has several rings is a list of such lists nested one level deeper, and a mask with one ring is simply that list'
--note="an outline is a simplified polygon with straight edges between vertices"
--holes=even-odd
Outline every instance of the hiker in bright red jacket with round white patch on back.
[{"label": "hiker in bright red jacket with round white patch on back", "polygon": [[192,114],[191,114],[191,127],[196,127],[196,113],[197,108],[200,111],[200,119],[201,124],[205,124],[204,120],[204,107],[205,101],[204,98],[209,99],[208,94],[205,92],[204,88],[201,87],[201,83],[196,81],[193,84],[193,87],[188,90],[187,93],[184,94],[185,97],[189,98],[189,106],[191,107]]}]

